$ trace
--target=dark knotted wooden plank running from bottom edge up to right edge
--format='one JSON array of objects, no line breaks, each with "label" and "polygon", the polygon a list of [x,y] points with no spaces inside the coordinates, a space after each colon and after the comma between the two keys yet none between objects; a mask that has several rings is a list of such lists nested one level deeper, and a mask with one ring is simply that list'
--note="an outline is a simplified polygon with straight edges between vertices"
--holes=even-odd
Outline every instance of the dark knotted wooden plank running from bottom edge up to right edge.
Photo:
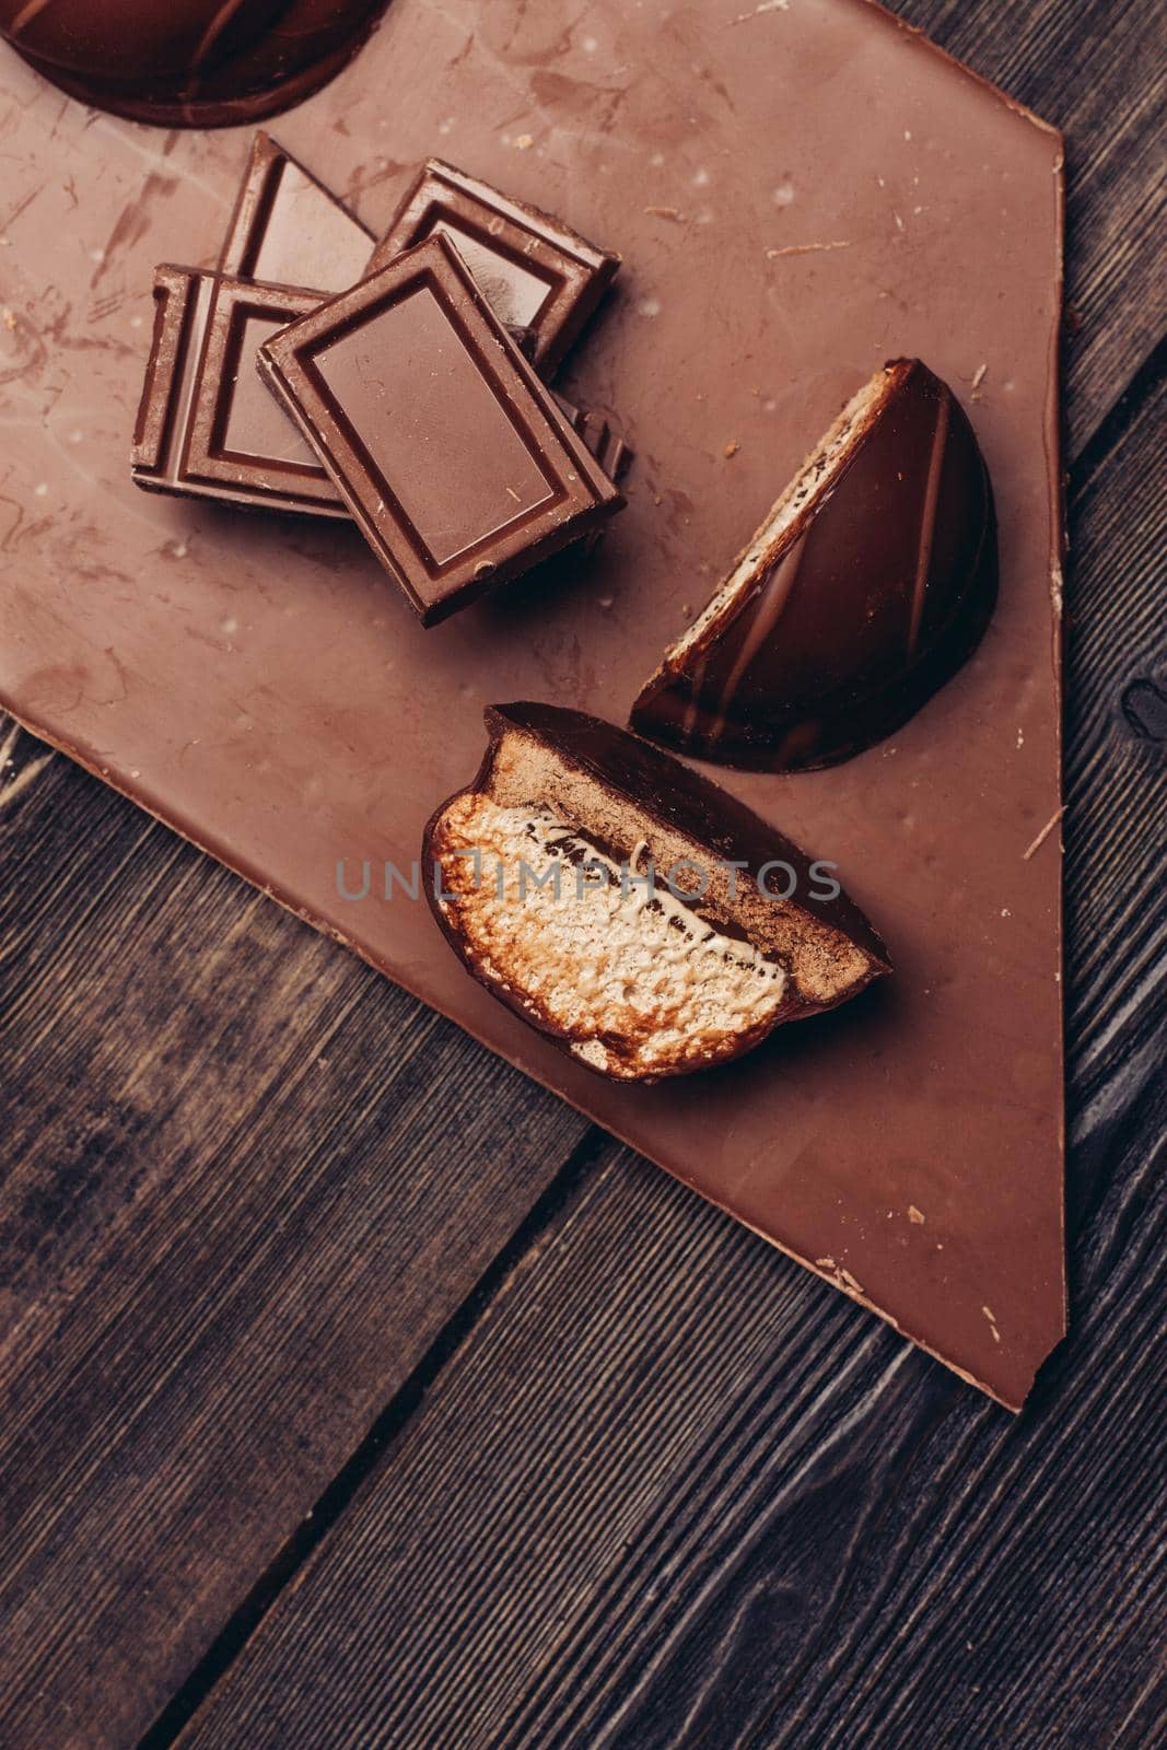
[{"label": "dark knotted wooden plank running from bottom edge up to right edge", "polygon": [[1167,786],[1122,700],[1165,402],[1071,500],[1073,1332],[1029,1410],[616,1155],[180,1750],[1157,1741]]}]

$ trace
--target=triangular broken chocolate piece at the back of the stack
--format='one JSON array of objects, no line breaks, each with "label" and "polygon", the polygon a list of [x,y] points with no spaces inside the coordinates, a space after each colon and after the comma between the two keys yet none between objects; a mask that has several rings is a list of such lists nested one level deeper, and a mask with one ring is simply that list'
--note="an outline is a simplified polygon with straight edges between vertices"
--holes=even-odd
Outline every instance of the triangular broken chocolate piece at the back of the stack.
[{"label": "triangular broken chocolate piece at the back of the stack", "polygon": [[255,135],[220,273],[343,292],[366,273],[373,245],[373,233],[310,170],[269,133]]}]

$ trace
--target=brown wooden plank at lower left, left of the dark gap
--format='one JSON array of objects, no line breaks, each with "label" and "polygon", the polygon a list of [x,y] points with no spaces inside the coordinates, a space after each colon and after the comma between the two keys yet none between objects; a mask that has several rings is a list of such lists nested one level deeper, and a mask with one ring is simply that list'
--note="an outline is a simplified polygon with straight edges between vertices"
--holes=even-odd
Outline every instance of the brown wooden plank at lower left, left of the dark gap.
[{"label": "brown wooden plank at lower left, left of the dark gap", "polygon": [[0,758],[0,1741],[98,1750],[586,1124],[65,760]]}]

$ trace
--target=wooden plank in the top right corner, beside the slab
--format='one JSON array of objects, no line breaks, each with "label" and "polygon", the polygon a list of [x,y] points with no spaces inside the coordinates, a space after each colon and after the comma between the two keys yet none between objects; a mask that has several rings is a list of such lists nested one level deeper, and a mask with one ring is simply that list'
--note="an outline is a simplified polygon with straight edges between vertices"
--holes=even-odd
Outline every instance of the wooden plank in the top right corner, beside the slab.
[{"label": "wooden plank in the top right corner, beside the slab", "polygon": [[1162,12],[1155,0],[896,0],[894,10],[1066,133],[1076,457],[1167,327],[1153,247],[1165,194]]}]

